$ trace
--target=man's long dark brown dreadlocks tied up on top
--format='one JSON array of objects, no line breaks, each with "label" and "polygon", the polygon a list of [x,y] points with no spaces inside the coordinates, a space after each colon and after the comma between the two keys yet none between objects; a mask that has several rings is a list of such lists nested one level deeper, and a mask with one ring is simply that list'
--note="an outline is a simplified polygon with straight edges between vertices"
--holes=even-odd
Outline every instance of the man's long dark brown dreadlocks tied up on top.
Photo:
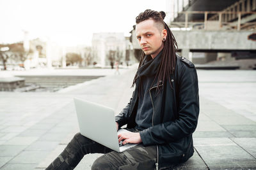
[{"label": "man's long dark brown dreadlocks tied up on top", "polygon": [[[160,90],[159,85],[161,84],[161,81],[164,84],[164,81],[168,80],[170,83],[170,86],[172,87],[172,83],[170,81],[170,74],[174,74],[175,64],[176,64],[175,52],[177,52],[177,50],[178,50],[177,42],[172,34],[172,31],[170,31],[170,28],[164,22],[164,17],[165,17],[164,11],[158,12],[158,11],[153,11],[153,10],[145,10],[144,12],[140,13],[140,15],[138,15],[138,17],[136,17],[136,24],[139,24],[140,22],[142,22],[144,20],[152,19],[155,22],[159,22],[159,23],[163,24],[164,29],[166,29],[166,31],[167,31],[166,40],[163,41],[164,47],[163,47],[163,53],[161,56],[161,62],[159,64],[157,74],[154,78],[154,81],[157,78],[157,91]],[[145,56],[146,56],[145,53],[142,52],[138,69],[143,64],[142,62],[143,62],[143,59],[145,59]],[[135,84],[135,81],[137,78],[138,78],[138,74],[136,74],[134,76],[132,87],[134,87],[134,84]],[[153,81],[153,83],[154,83],[154,81]],[[153,83],[152,83],[152,85],[153,85]],[[151,87],[152,87],[152,85],[151,85]],[[139,91],[140,91],[140,87],[139,87]],[[140,92],[139,92],[139,94],[140,94]]]}]

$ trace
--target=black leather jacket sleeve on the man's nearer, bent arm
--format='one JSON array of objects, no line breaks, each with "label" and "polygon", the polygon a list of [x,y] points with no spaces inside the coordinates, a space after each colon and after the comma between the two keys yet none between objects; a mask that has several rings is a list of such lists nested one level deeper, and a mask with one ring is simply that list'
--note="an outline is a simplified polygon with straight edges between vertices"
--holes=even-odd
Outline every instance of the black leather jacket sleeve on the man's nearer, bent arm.
[{"label": "black leather jacket sleeve on the man's nearer, bent arm", "polygon": [[182,67],[179,81],[179,118],[149,127],[140,132],[144,145],[164,144],[191,135],[198,122],[199,95],[195,67]]}]

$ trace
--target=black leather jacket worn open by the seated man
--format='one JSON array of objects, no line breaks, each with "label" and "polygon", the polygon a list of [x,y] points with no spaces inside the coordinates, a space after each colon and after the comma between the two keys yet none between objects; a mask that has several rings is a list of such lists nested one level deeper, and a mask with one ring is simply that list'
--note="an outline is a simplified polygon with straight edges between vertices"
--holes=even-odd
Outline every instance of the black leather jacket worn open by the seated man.
[{"label": "black leather jacket worn open by the seated man", "polygon": [[[193,155],[192,133],[199,115],[198,78],[192,62],[177,55],[175,76],[162,84],[163,90],[156,95],[157,85],[150,89],[152,101],[152,127],[140,132],[143,145],[157,146],[156,168],[185,162]],[[135,127],[138,106],[138,85],[130,102],[115,117],[119,127],[127,124]]]}]

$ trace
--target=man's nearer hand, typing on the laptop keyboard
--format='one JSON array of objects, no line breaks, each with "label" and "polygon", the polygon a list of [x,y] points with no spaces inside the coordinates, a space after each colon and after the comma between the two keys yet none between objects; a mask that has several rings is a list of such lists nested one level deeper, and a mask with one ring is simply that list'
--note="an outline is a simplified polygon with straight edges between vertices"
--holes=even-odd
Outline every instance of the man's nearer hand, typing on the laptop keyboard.
[{"label": "man's nearer hand, typing on the laptop keyboard", "polygon": [[140,133],[139,132],[125,132],[122,134],[118,134],[118,142],[123,141],[123,145],[126,143],[141,143]]}]

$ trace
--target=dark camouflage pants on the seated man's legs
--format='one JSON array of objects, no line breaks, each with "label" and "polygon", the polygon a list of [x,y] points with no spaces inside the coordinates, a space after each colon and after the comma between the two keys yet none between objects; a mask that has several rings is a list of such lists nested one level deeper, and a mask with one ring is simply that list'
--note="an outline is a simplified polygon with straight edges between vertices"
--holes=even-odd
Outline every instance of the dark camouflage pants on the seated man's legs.
[{"label": "dark camouflage pants on the seated man's legs", "polygon": [[74,169],[88,153],[105,153],[93,162],[92,169],[156,169],[156,146],[140,144],[118,153],[80,133],[46,169]]}]

